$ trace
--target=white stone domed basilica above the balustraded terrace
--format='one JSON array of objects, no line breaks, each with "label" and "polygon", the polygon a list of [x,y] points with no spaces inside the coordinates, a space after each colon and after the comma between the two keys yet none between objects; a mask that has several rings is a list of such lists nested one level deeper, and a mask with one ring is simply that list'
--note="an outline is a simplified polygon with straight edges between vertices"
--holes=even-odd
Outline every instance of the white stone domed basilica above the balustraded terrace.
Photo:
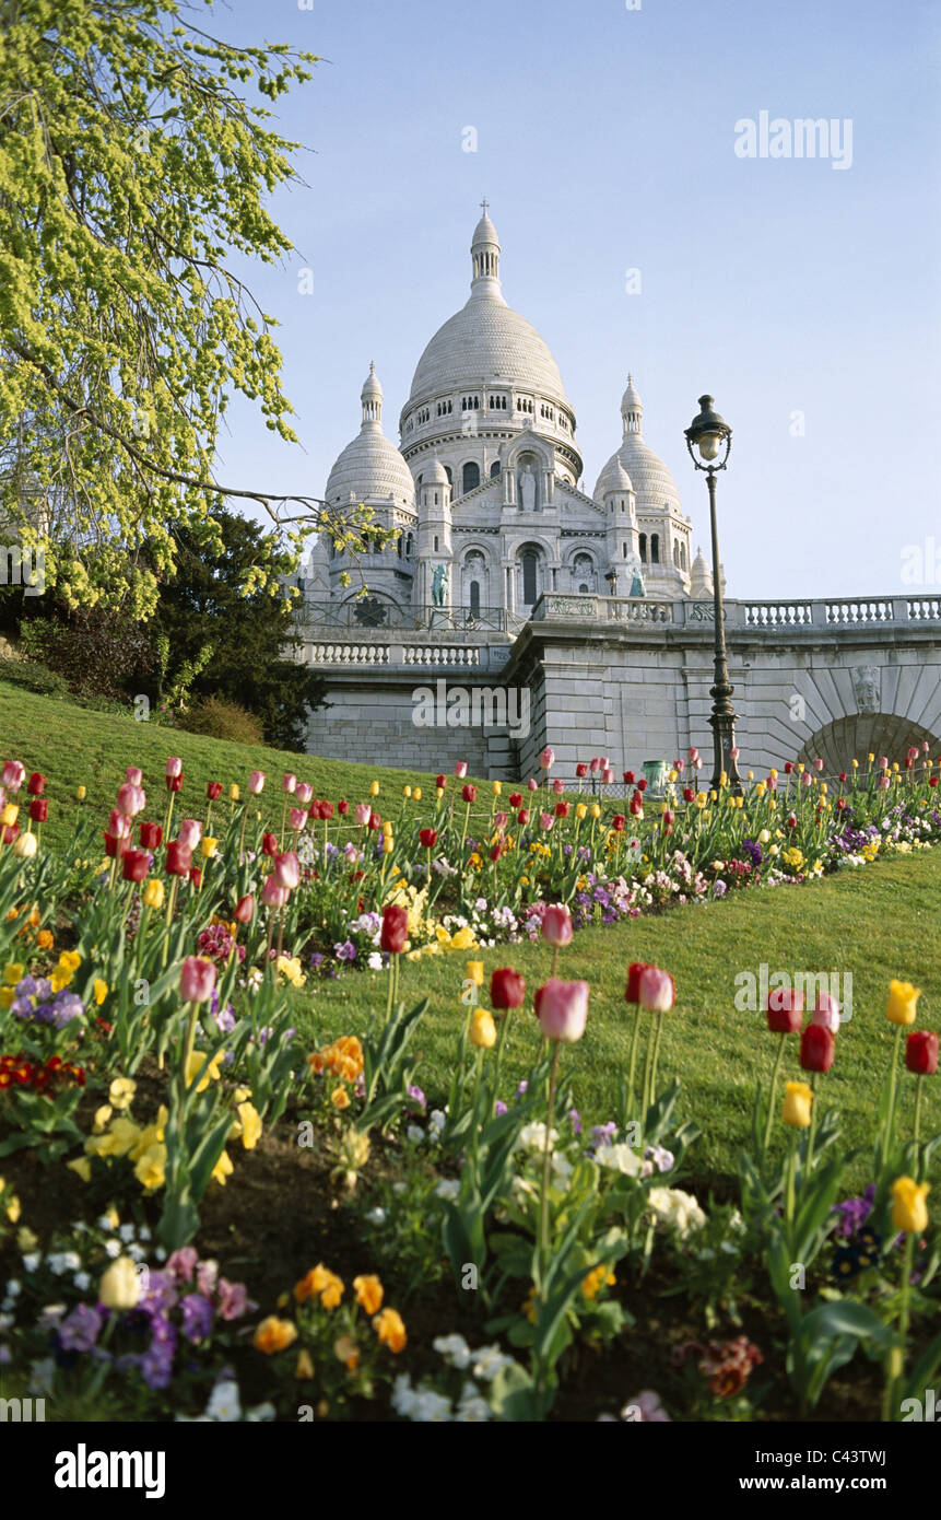
[{"label": "white stone domed basilica above the balustraded terrace", "polygon": [[575,410],[549,347],[503,298],[486,202],[471,260],[470,299],[418,360],[400,447],[383,433],[371,366],[360,430],[327,480],[331,511],[363,503],[398,538],[366,556],[321,538],[304,570],[307,597],[339,610],[365,579],[375,622],[386,620],[386,603],[388,614],[418,620],[447,608],[473,626],[500,614],[526,619],[543,591],[711,596],[702,555],[690,555],[676,482],[645,442],[631,375],[620,445],[587,496]]}]

